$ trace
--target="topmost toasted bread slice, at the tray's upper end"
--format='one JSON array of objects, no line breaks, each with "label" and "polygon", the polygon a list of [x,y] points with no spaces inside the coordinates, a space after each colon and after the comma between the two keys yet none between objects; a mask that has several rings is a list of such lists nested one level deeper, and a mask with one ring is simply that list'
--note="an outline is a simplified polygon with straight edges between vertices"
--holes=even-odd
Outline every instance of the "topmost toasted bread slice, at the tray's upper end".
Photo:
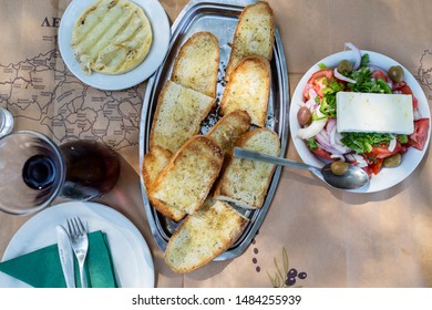
[{"label": "topmost toasted bread slice, at the tray's upper end", "polygon": [[225,81],[230,80],[234,69],[246,56],[260,55],[270,62],[274,42],[275,20],[270,6],[258,1],[245,7],[234,32]]}]

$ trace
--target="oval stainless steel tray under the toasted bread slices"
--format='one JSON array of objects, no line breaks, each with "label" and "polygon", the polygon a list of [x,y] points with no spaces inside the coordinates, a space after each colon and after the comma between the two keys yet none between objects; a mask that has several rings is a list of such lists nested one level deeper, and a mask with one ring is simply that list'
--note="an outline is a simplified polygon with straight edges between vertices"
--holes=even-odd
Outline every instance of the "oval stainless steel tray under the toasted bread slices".
[{"label": "oval stainless steel tray under the toasted bread slices", "polygon": [[[244,7],[253,2],[255,1],[208,2],[195,0],[191,1],[179,13],[178,18],[172,27],[172,39],[166,59],[158,71],[156,71],[156,73],[148,80],[147,83],[140,128],[141,167],[144,162],[144,154],[148,152],[148,137],[154,111],[157,104],[157,97],[165,82],[169,80],[172,66],[179,48],[192,34],[198,31],[209,31],[215,34],[218,38],[220,45],[220,66],[218,81],[222,81],[230,53],[229,43],[233,40],[234,31],[238,22],[238,17]],[[266,126],[278,133],[281,142],[281,154],[284,155],[286,153],[288,142],[289,84],[284,48],[277,29],[275,31],[274,56],[270,66],[271,90]],[[224,83],[218,82],[217,102],[220,101],[224,86]],[[208,128],[217,121],[217,118],[218,116],[215,113],[210,114],[203,123],[200,133],[205,134]],[[245,210],[237,208],[250,218],[250,223],[240,238],[227,251],[218,256],[215,260],[235,258],[241,255],[248,247],[270,207],[272,197],[279,183],[280,173],[281,167],[277,167],[261,209]],[[162,250],[165,250],[171,235],[178,227],[179,223],[177,224],[171,219],[167,219],[150,205],[142,175],[141,187],[145,211],[153,237],[158,247]]]}]

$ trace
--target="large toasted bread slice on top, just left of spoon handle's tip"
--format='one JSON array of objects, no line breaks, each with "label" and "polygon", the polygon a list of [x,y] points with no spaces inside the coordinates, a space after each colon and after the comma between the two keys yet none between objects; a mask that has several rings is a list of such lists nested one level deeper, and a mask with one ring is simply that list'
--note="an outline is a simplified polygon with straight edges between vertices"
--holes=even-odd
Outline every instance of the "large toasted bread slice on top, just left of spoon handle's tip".
[{"label": "large toasted bread slice on top, just left of spoon handle's tip", "polygon": [[148,190],[151,204],[178,221],[172,209],[193,214],[199,209],[219,175],[224,155],[209,137],[188,140],[160,173]]}]

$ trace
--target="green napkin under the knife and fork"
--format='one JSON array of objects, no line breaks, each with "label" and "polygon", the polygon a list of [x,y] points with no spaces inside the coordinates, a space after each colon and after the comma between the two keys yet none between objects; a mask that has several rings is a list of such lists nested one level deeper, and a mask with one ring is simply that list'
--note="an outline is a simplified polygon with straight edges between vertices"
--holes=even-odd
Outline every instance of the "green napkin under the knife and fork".
[{"label": "green napkin under the knife and fork", "polygon": [[[75,258],[75,283],[80,285],[79,266]],[[101,230],[89,234],[89,251],[85,260],[89,287],[116,288],[114,268],[106,234]],[[58,246],[52,245],[12,258],[0,264],[0,271],[35,288],[65,288]]]}]

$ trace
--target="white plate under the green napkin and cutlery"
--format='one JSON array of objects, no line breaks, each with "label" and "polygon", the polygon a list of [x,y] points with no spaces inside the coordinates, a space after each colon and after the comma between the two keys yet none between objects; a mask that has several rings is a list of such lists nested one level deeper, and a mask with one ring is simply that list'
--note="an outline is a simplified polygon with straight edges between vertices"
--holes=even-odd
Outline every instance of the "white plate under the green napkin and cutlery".
[{"label": "white plate under the green napkin and cutlery", "polygon": [[[86,221],[90,232],[102,230],[106,234],[119,287],[154,287],[152,255],[140,230],[121,213],[96,203],[70,202],[34,215],[12,237],[2,260],[55,244],[55,226],[65,225],[66,219],[72,216]],[[0,287],[30,286],[0,272]]]}]

